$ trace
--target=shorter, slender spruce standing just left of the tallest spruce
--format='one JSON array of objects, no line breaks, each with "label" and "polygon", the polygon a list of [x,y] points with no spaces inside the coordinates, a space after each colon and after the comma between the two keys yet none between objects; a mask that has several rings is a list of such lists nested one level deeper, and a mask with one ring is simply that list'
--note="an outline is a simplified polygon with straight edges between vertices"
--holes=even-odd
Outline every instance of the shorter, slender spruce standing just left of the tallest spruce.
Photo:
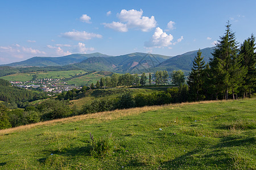
[{"label": "shorter, slender spruce standing just left of the tallest spruce", "polygon": [[205,98],[203,94],[203,84],[204,84],[204,68],[205,61],[204,57],[201,57],[202,52],[200,49],[197,52],[197,56],[193,61],[193,67],[191,73],[188,76],[188,86],[189,94],[192,97],[192,100],[203,100]]}]

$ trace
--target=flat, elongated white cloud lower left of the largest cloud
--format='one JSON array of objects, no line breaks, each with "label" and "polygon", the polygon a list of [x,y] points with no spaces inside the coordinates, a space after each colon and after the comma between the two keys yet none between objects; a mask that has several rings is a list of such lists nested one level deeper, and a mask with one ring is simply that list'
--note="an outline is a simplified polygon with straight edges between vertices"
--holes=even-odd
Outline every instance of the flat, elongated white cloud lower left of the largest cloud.
[{"label": "flat, elongated white cloud lower left of the largest cloud", "polygon": [[90,40],[92,38],[102,38],[102,35],[96,34],[96,33],[89,33],[86,31],[71,31],[71,32],[65,32],[62,33],[61,37],[76,40],[76,41],[84,41],[84,40]]}]

